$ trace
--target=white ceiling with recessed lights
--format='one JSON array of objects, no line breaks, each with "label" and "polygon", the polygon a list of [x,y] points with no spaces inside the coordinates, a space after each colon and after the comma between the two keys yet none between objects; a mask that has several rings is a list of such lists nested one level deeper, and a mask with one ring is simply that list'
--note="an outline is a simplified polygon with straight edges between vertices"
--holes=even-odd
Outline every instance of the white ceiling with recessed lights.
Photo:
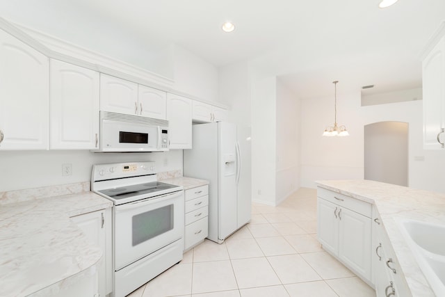
[{"label": "white ceiling with recessed lights", "polygon": [[[421,86],[419,54],[445,20],[444,0],[0,0],[1,16],[67,35],[115,34],[141,47],[180,45],[224,66],[248,59],[300,97]],[[225,33],[226,20],[236,29]],[[69,40],[69,38],[67,38]],[[122,40],[126,42],[127,40]]]}]

